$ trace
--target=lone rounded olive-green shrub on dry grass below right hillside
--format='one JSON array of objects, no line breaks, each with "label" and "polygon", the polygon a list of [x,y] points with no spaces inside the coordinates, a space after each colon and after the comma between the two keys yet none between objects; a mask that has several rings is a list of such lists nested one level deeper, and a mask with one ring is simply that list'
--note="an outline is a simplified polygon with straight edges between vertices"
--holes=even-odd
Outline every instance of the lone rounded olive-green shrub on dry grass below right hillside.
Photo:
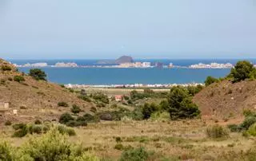
[{"label": "lone rounded olive-green shrub on dry grass below right hillside", "polygon": [[222,126],[215,124],[212,127],[208,127],[206,129],[206,135],[210,138],[214,138],[214,139],[218,139],[218,138],[225,138],[228,137],[229,134],[226,131],[225,128],[223,128]]}]

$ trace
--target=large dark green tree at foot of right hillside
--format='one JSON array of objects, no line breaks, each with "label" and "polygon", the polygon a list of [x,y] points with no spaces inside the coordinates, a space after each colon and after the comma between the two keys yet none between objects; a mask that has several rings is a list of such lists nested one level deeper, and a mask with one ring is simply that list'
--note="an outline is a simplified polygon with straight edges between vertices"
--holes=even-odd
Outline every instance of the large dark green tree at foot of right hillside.
[{"label": "large dark green tree at foot of right hillside", "polygon": [[168,103],[171,120],[191,119],[200,114],[198,106],[192,102],[190,95],[184,88],[172,88]]}]

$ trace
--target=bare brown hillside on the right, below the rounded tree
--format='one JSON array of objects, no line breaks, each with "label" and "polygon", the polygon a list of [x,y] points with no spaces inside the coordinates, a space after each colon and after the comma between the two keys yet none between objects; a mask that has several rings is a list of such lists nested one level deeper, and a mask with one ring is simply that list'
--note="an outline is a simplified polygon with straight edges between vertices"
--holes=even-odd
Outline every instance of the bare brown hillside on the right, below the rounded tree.
[{"label": "bare brown hillside on the right, below the rounded tree", "polygon": [[256,81],[210,84],[194,96],[194,103],[198,104],[202,116],[242,116],[243,109],[256,109]]}]

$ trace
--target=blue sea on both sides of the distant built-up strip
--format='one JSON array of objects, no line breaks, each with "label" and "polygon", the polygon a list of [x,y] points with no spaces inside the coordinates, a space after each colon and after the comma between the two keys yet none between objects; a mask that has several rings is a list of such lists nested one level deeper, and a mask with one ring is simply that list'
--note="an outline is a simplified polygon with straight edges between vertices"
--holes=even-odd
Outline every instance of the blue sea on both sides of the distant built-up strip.
[{"label": "blue sea on both sides of the distant built-up strip", "polygon": [[[256,59],[247,59],[256,64]],[[98,65],[102,60],[8,60],[11,63],[24,65],[26,63],[46,62],[54,65],[57,62],[74,62],[78,65]],[[110,60],[109,60],[110,61]],[[149,61],[151,63],[162,62],[164,65],[189,66],[198,63],[210,64],[231,63],[235,64],[238,59],[135,59],[134,61]],[[189,84],[203,83],[206,77],[225,77],[230,69],[114,69],[114,68],[41,68],[47,74],[48,81],[58,84]],[[19,71],[29,73],[30,68],[19,68]]]}]

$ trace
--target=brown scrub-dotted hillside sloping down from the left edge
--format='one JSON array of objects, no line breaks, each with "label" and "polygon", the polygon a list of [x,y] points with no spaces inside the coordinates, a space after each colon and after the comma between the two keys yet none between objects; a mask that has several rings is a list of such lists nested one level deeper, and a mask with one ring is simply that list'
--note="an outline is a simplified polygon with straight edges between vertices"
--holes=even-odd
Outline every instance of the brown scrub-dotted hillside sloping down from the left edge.
[{"label": "brown scrub-dotted hillside sloping down from the left edge", "polygon": [[[3,71],[2,65],[8,65],[11,70]],[[0,103],[8,102],[10,110],[0,112],[0,124],[3,120],[29,121],[35,119],[58,120],[63,112],[70,112],[70,107],[77,104],[84,111],[89,111],[93,104],[78,99],[75,93],[69,92],[58,84],[46,81],[35,81],[24,75],[25,81],[19,83],[13,78],[18,73],[14,66],[0,59]],[[58,107],[58,102],[64,101],[69,108]],[[14,115],[13,110],[18,110]]]}]

